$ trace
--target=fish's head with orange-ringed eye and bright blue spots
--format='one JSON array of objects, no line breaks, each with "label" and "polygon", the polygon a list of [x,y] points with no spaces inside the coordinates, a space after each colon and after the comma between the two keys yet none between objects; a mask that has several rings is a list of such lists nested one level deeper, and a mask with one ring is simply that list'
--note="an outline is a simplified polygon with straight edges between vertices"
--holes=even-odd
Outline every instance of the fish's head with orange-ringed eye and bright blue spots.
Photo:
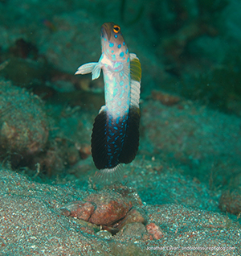
[{"label": "fish's head with orange-ringed eye and bright blue spots", "polygon": [[100,29],[102,52],[111,61],[129,61],[129,52],[120,26],[115,23],[104,23]]}]

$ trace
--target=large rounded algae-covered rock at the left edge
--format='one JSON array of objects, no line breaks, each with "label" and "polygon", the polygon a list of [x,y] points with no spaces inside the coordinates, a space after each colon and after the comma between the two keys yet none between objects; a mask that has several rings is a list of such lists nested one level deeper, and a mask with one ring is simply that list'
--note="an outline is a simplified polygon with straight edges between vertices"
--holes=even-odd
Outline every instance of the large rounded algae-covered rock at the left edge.
[{"label": "large rounded algae-covered rock at the left edge", "polygon": [[1,81],[0,102],[0,154],[22,159],[43,151],[49,130],[40,98]]}]

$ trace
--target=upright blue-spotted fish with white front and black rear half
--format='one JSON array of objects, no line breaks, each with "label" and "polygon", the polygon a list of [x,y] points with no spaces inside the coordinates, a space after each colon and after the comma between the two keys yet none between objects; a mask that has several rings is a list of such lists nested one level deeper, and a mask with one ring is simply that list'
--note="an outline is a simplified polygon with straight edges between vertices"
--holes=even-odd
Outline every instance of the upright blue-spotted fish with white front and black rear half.
[{"label": "upright blue-spotted fish with white front and black rear half", "polygon": [[104,183],[122,179],[122,165],[135,159],[139,147],[141,63],[129,53],[116,23],[100,28],[101,56],[98,62],[81,65],[75,75],[104,76],[104,101],[92,128],[92,159],[97,177]]}]

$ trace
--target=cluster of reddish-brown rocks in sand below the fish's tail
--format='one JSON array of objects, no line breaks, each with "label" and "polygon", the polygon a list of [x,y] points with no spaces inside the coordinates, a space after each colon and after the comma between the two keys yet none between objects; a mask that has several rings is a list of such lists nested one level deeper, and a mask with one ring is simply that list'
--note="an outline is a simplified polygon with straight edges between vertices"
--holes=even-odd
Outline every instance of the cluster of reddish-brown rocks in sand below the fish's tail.
[{"label": "cluster of reddish-brown rocks in sand below the fish's tail", "polygon": [[142,226],[146,223],[143,210],[132,209],[132,207],[129,196],[124,197],[116,192],[104,191],[91,194],[82,201],[66,204],[61,210],[67,217],[75,217],[101,225],[103,230],[116,234],[126,225],[141,223]]}]

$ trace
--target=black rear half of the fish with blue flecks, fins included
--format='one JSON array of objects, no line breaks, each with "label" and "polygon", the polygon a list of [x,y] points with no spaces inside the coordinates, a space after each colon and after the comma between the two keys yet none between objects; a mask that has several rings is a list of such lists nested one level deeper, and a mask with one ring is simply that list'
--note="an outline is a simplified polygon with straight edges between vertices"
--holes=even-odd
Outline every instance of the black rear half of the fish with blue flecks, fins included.
[{"label": "black rear half of the fish with blue flecks, fins included", "polygon": [[112,119],[107,111],[96,116],[92,129],[92,158],[98,169],[130,163],[139,147],[140,109],[131,107],[128,117]]}]

